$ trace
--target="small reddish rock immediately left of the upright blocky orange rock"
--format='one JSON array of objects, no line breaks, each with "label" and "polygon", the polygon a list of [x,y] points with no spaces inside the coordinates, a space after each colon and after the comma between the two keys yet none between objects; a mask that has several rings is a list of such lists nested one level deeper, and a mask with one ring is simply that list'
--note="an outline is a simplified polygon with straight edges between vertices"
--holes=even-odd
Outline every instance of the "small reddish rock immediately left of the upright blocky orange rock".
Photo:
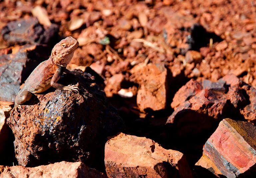
[{"label": "small reddish rock immediately left of the upright blocky orange rock", "polygon": [[124,80],[123,74],[115,74],[106,80],[106,87],[104,89],[107,97],[112,97],[113,94],[117,94],[121,89],[121,83]]}]

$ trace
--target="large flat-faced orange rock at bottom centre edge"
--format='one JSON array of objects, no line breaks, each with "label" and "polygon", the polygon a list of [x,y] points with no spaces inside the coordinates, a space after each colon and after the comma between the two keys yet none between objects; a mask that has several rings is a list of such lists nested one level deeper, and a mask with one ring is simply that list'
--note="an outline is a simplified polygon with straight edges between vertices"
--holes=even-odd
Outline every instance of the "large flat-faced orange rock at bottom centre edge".
[{"label": "large flat-faced orange rock at bottom centre edge", "polygon": [[105,166],[108,177],[192,177],[181,152],[123,133],[107,141]]}]

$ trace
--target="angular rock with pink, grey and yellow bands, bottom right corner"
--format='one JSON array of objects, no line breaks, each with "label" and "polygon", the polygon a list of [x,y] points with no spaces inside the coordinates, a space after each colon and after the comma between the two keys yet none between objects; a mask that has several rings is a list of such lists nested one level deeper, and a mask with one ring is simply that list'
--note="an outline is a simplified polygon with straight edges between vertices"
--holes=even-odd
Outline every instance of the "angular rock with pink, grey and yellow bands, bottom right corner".
[{"label": "angular rock with pink, grey and yellow bands, bottom right corner", "polygon": [[256,127],[252,124],[224,119],[205,143],[196,165],[228,178],[255,175],[255,140]]}]

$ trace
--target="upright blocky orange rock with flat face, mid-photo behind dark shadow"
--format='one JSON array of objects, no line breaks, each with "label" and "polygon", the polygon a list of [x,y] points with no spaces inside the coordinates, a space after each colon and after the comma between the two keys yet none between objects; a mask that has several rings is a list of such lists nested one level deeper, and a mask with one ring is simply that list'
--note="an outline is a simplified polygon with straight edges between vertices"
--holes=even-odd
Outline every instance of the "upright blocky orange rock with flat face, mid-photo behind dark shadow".
[{"label": "upright blocky orange rock with flat face, mid-photo behind dark shadow", "polygon": [[168,82],[163,64],[141,63],[131,69],[134,81],[140,84],[137,105],[140,111],[158,111],[166,108]]}]

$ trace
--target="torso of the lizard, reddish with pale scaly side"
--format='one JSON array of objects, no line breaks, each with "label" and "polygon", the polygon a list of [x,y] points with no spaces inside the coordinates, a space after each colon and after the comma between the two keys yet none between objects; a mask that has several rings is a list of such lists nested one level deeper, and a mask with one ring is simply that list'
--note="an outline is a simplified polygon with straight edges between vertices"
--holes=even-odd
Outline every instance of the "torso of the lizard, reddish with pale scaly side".
[{"label": "torso of the lizard, reddish with pale scaly side", "polygon": [[24,83],[22,91],[27,90],[31,93],[41,93],[51,87],[51,79],[57,69],[50,59],[41,62],[29,75]]}]

